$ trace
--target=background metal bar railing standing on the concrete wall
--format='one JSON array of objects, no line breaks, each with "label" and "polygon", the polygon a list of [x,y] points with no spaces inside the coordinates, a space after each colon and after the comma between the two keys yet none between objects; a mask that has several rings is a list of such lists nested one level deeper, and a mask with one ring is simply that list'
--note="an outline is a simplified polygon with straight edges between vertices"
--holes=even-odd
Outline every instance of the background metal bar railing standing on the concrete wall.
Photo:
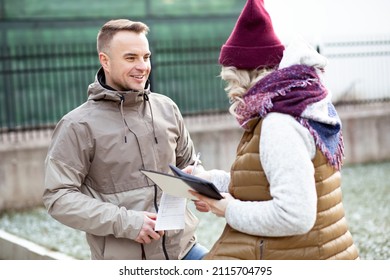
[{"label": "background metal bar railing standing on the concrete wall", "polygon": [[[226,112],[218,77],[222,42],[151,42],[152,90],[171,97],[185,116]],[[336,105],[390,101],[390,40],[318,49],[329,59],[326,79]],[[87,99],[98,68],[95,44],[0,46],[0,141],[2,134],[54,127]]]}]

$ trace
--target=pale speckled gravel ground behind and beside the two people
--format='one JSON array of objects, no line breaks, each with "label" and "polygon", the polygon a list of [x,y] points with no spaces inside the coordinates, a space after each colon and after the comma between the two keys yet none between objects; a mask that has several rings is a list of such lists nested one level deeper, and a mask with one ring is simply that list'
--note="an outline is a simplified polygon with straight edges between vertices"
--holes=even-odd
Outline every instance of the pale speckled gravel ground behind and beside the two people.
[{"label": "pale speckled gravel ground behind and beside the two people", "polygon": [[[390,259],[390,162],[345,166],[342,187],[347,220],[360,258]],[[190,208],[194,209],[192,203]],[[210,248],[224,227],[224,219],[194,213],[200,218],[198,239]],[[79,259],[89,259],[84,233],[52,219],[43,208],[0,214],[0,228]]]}]

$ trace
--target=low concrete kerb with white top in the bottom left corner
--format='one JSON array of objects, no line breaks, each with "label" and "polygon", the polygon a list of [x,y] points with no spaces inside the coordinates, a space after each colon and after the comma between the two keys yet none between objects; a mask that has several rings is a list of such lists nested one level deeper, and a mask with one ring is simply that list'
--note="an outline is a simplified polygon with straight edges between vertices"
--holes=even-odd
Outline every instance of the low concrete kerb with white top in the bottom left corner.
[{"label": "low concrete kerb with white top in the bottom left corner", "polygon": [[0,230],[0,259],[2,260],[72,260],[74,258],[48,250],[31,241]]}]

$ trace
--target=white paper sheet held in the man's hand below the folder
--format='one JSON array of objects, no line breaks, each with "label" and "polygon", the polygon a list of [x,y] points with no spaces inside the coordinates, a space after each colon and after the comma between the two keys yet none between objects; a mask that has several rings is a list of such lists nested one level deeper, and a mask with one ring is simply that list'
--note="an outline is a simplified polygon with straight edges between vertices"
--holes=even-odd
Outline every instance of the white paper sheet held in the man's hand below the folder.
[{"label": "white paper sheet held in the man's hand below the folder", "polygon": [[154,230],[184,229],[187,199],[163,193]]}]

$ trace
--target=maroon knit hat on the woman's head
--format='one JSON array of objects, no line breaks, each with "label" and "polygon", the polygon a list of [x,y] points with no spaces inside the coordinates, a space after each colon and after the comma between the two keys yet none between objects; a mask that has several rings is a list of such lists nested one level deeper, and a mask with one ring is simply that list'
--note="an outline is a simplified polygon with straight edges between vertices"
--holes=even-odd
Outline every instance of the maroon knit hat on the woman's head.
[{"label": "maroon knit hat on the woman's head", "polygon": [[274,33],[263,0],[248,0],[228,40],[221,48],[219,63],[238,69],[274,67],[284,46]]}]

